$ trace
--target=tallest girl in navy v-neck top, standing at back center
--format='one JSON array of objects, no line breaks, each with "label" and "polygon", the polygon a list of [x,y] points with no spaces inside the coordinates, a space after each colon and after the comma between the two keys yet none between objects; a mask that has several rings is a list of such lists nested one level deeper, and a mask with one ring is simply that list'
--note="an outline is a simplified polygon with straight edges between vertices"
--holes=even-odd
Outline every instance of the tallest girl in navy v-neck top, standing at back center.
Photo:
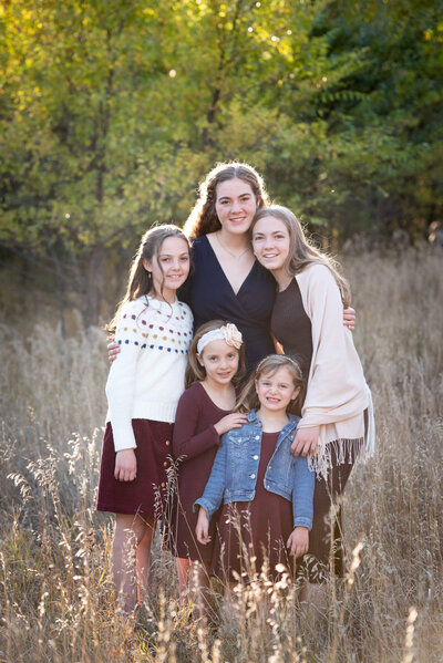
[{"label": "tallest girl in navy v-neck top, standing at back center", "polygon": [[248,237],[255,213],[268,203],[254,168],[219,164],[202,183],[184,227],[194,261],[184,299],[195,327],[215,318],[234,322],[244,336],[247,372],[275,352],[269,330],[276,284],[255,259]]}]

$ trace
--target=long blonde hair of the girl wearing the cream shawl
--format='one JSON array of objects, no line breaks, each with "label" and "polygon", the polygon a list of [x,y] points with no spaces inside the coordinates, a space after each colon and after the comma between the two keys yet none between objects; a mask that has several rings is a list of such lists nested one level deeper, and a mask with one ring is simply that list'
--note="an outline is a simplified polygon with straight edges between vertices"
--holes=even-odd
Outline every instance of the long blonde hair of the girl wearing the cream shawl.
[{"label": "long blonde hair of the girl wearing the cream shawl", "polygon": [[255,225],[264,217],[279,219],[288,230],[289,253],[284,266],[287,274],[293,277],[303,271],[309,265],[324,265],[336,279],[344,308],[349,307],[351,303],[351,289],[346,278],[339,271],[339,263],[309,241],[296,215],[287,207],[281,207],[280,205],[261,207],[261,209],[257,210],[250,225],[249,231],[251,236]]}]

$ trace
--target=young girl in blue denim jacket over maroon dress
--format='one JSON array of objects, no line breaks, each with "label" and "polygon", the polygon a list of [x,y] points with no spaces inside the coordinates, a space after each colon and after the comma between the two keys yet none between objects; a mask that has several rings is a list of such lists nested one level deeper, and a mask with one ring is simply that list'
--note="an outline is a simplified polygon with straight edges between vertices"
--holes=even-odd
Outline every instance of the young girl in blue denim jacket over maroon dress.
[{"label": "young girl in blue denim jacket over maroon dress", "polygon": [[[276,579],[279,564],[308,550],[315,475],[305,457],[290,453],[302,386],[299,365],[269,355],[257,366],[237,410],[248,421],[222,438],[199,506],[196,537],[209,545],[209,521],[223,503],[213,573],[227,582],[248,581],[265,571]],[[266,562],[269,567],[266,567]],[[277,569],[276,569],[277,567]]]}]

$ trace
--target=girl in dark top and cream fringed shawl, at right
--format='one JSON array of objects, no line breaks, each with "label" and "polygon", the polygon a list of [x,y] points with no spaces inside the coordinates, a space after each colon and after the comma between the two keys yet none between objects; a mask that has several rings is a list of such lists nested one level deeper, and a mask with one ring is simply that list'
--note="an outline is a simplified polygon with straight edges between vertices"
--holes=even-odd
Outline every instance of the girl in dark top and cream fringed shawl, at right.
[{"label": "girl in dark top and cream fringed shawl, at right", "polygon": [[[293,214],[285,207],[260,209],[251,225],[254,252],[274,274],[279,292],[272,332],[286,354],[296,358],[307,380],[295,455],[309,455],[317,470],[313,525],[306,598],[323,600],[321,583],[330,561],[342,572],[342,522],[327,521],[331,503],[339,505],[357,455],[367,439],[373,446],[372,401],[352,341],[342,324],[350,290],[337,266],[311,246]],[[339,514],[339,511],[338,511]],[[334,559],[330,560],[330,550]],[[316,583],[316,584],[315,584]]]}]

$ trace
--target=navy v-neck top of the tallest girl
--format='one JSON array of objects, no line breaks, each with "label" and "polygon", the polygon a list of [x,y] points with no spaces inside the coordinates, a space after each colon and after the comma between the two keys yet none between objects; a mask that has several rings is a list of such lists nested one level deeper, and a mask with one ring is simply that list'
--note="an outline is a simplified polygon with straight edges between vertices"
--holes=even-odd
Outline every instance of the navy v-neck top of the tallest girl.
[{"label": "navy v-neck top of the tallest girl", "polygon": [[234,322],[244,338],[249,373],[275,352],[269,330],[276,281],[256,260],[236,294],[205,235],[193,240],[192,257],[194,270],[179,297],[193,310],[195,329],[209,320]]}]

